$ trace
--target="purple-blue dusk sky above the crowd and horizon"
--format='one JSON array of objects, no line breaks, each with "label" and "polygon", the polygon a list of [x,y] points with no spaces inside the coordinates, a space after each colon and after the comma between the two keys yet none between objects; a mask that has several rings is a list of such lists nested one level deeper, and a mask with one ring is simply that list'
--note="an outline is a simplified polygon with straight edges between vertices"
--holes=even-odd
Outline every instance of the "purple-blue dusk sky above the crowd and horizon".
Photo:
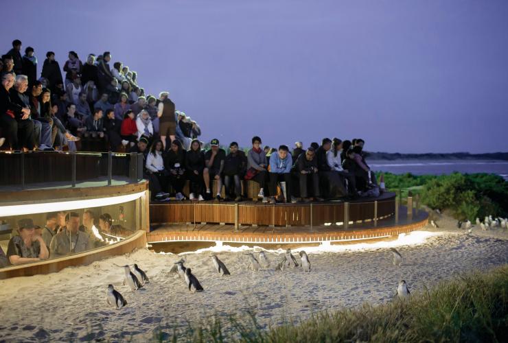
[{"label": "purple-blue dusk sky above the crowd and horizon", "polygon": [[109,50],[148,93],[170,91],[203,140],[508,150],[508,1],[24,0],[3,9],[13,14],[0,21],[3,52],[19,38],[40,73],[48,50],[60,66],[69,50],[83,61]]}]

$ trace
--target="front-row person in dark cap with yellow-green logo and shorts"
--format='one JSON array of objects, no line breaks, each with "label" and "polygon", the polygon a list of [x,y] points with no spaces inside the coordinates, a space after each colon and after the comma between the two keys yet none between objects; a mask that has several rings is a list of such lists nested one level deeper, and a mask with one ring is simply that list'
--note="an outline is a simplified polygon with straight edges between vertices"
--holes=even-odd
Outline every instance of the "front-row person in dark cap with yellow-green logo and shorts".
[{"label": "front-row person in dark cap with yellow-green logo and shorts", "polygon": [[210,150],[205,153],[205,169],[203,169],[203,180],[205,181],[205,200],[211,200],[210,180],[216,180],[217,194],[216,199],[221,200],[220,191],[222,190],[222,170],[224,169],[224,159],[226,152],[219,147],[219,140],[210,141]]}]

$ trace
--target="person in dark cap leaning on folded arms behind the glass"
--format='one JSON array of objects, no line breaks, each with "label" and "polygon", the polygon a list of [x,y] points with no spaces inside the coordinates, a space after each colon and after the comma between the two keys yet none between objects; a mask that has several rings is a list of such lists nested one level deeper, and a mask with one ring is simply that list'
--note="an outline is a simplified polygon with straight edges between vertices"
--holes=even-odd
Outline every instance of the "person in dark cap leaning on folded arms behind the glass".
[{"label": "person in dark cap leaning on folded arms behind the glass", "polygon": [[36,226],[31,219],[18,222],[19,235],[13,236],[8,244],[7,257],[12,265],[40,261],[47,259],[49,252],[43,237],[36,235]]}]

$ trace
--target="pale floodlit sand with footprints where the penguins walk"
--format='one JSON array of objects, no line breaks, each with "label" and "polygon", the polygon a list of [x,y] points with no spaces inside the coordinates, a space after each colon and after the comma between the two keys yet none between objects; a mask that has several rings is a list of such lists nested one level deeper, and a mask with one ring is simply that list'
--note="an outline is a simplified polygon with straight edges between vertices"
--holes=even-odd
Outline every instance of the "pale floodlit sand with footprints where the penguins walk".
[{"label": "pale floodlit sand with footprints where the penguins walk", "polygon": [[[148,250],[54,274],[0,281],[0,340],[140,341],[151,338],[154,330],[171,333],[173,327],[197,324],[213,314],[227,318],[243,316],[245,311],[252,311],[259,324],[268,327],[305,319],[316,311],[389,302],[401,279],[417,292],[461,272],[508,263],[506,232],[474,230],[467,235],[455,223],[443,216],[438,229],[429,225],[395,241],[304,248],[310,273],[301,268],[275,271],[282,250],[266,250],[270,268],[258,272],[246,269],[244,252],[254,250],[257,255],[259,248],[223,246],[185,254],[185,265],[205,288],[196,294],[169,272],[181,255]],[[391,247],[404,257],[400,267],[392,263]],[[213,270],[212,250],[231,276]],[[150,277],[150,283],[137,292],[122,285],[123,271],[117,265],[127,263],[138,263]],[[109,283],[128,301],[124,309],[106,303]]]}]

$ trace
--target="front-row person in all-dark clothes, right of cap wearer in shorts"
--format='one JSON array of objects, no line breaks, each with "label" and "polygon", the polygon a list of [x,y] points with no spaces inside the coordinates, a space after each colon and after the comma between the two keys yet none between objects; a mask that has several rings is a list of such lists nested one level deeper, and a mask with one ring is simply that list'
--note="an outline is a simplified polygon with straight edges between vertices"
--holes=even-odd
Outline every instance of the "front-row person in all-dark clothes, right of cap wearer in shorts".
[{"label": "front-row person in all-dark clothes, right of cap wearer in shorts", "polygon": [[229,154],[224,159],[224,185],[226,187],[226,201],[242,200],[242,184],[240,178],[245,174],[247,159],[238,150],[238,143],[229,144]]}]

